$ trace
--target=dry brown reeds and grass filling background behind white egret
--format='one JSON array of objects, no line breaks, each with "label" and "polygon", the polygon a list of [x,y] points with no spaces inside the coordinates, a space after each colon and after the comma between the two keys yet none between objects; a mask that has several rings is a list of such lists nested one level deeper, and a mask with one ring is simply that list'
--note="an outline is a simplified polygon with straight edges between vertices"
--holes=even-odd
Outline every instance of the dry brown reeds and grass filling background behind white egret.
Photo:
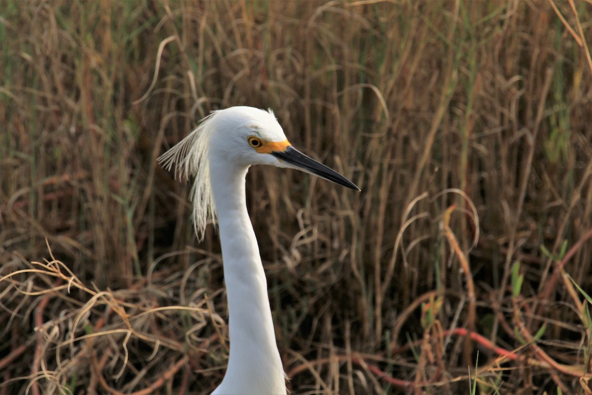
[{"label": "dry brown reeds and grass filling background behind white egret", "polygon": [[362,188],[247,180],[293,393],[591,393],[590,2],[2,10],[0,394],[220,382],[217,236],[155,159],[240,104]]}]

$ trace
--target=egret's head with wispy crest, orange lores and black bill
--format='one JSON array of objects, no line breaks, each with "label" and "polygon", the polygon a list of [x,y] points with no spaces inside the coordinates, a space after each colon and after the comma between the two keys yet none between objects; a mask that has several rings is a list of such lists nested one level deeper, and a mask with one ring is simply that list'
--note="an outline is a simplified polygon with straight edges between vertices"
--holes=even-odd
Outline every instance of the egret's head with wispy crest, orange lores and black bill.
[{"label": "egret's head with wispy crest, orange lores and black bill", "polygon": [[158,158],[166,169],[175,163],[175,177],[195,176],[192,195],[198,235],[203,234],[207,218],[215,218],[210,184],[213,160],[243,168],[272,165],[298,169],[359,190],[349,179],[292,147],[271,110],[241,106],[213,111]]}]

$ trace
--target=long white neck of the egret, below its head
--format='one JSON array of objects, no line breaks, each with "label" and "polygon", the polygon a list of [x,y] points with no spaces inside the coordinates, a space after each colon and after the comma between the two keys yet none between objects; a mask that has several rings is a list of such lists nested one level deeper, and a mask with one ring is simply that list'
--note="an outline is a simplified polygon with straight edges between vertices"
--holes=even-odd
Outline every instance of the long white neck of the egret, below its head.
[{"label": "long white neck of the egret, below its head", "polygon": [[229,306],[230,357],[213,394],[286,394],[267,281],[246,207],[248,168],[210,162]]}]

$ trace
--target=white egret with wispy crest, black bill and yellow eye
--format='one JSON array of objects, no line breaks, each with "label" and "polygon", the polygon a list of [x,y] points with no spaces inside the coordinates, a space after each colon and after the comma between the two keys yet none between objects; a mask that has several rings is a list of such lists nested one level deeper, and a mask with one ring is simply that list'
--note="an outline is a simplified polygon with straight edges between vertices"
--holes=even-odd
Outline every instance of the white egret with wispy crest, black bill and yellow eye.
[{"label": "white egret with wispy crest, black bill and yellow eye", "polygon": [[230,107],[213,111],[158,159],[175,177],[195,176],[194,227],[203,239],[218,219],[229,309],[230,355],[213,394],[286,394],[275,341],[267,281],[246,207],[251,165],[300,169],[359,190],[349,179],[291,146],[271,110]]}]

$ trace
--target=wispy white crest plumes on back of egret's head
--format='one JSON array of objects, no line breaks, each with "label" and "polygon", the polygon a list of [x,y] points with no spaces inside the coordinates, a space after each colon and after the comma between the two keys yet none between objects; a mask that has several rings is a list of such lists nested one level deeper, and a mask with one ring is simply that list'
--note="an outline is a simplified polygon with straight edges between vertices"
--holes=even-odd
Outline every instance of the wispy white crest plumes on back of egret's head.
[{"label": "wispy white crest plumes on back of egret's head", "polygon": [[217,219],[214,194],[210,182],[210,138],[211,123],[217,111],[205,117],[200,125],[189,133],[185,139],[177,143],[157,160],[169,170],[175,165],[175,179],[195,176],[191,188],[193,202],[193,225],[195,234],[201,241],[204,239],[205,226],[208,219],[215,223]]}]

